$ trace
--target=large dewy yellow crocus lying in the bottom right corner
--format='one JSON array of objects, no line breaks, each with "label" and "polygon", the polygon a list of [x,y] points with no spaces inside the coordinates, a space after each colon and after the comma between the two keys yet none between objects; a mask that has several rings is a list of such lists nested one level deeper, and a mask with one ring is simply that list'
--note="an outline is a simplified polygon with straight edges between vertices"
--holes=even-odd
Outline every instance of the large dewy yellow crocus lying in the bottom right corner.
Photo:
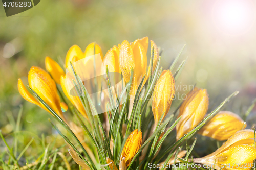
[{"label": "large dewy yellow crocus lying in the bottom right corner", "polygon": [[[251,169],[255,158],[254,132],[246,129],[235,133],[214,153],[193,159],[193,161],[207,165],[211,164],[217,170]],[[227,167],[224,167],[225,165]],[[239,165],[243,165],[243,168]]]}]

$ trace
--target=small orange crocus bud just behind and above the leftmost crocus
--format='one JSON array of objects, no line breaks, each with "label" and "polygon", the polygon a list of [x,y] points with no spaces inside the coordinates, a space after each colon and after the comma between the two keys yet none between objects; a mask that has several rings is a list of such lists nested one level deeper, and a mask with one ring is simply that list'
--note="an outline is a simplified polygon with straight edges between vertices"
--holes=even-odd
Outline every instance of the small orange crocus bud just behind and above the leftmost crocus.
[{"label": "small orange crocus bud just behind and above the leftmost crocus", "polygon": [[60,84],[60,80],[59,80],[60,76],[64,76],[65,72],[62,70],[59,64],[53,59],[51,59],[50,57],[46,57],[45,64],[46,64],[46,70],[52,76],[53,80],[57,84]]}]

